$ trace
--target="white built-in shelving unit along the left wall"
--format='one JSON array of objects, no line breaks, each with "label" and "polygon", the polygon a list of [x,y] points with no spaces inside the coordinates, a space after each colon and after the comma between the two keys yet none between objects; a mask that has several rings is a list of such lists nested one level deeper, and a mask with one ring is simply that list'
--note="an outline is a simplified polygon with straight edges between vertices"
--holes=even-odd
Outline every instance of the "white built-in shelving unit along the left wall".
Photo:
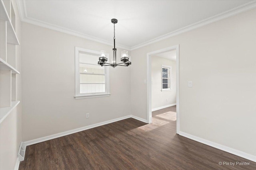
[{"label": "white built-in shelving unit along the left wall", "polygon": [[0,123],[20,103],[16,100],[16,16],[11,0],[0,0]]}]

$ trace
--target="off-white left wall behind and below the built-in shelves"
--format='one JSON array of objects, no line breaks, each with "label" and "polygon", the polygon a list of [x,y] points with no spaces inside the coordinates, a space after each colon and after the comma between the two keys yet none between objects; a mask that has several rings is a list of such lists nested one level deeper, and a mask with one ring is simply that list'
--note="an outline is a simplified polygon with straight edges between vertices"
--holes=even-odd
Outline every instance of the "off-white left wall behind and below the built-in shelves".
[{"label": "off-white left wall behind and below the built-in shelves", "polygon": [[[16,1],[12,0],[16,15],[16,35],[21,42],[21,22]],[[16,45],[16,69],[21,72],[21,45]],[[16,100],[20,104],[0,125],[0,169],[13,170],[21,142],[21,74],[16,74]]]}]

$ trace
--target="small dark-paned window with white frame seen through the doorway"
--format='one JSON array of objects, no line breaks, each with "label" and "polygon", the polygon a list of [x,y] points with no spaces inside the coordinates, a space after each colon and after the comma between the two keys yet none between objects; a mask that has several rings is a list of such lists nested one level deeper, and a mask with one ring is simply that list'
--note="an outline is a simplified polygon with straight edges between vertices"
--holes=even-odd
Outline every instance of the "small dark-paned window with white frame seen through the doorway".
[{"label": "small dark-paned window with white frame seen through the doorway", "polygon": [[162,65],[162,91],[172,90],[172,67]]}]

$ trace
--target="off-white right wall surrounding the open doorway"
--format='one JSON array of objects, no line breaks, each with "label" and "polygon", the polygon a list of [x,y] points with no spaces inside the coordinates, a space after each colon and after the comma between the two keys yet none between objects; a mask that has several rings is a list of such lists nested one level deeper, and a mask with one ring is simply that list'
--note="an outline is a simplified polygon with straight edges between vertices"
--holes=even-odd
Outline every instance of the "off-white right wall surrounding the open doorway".
[{"label": "off-white right wall surrounding the open doorway", "polygon": [[179,44],[180,131],[256,156],[255,16],[249,10],[132,51],[132,114],[147,119],[146,54]]}]

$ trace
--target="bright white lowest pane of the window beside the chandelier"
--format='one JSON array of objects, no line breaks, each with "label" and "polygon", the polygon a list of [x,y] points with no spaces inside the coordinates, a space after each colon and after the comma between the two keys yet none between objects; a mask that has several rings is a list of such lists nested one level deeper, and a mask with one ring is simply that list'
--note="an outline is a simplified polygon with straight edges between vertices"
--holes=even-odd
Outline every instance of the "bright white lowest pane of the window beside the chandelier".
[{"label": "bright white lowest pane of the window beside the chandelier", "polygon": [[100,93],[105,91],[105,84],[80,84],[80,93]]}]

